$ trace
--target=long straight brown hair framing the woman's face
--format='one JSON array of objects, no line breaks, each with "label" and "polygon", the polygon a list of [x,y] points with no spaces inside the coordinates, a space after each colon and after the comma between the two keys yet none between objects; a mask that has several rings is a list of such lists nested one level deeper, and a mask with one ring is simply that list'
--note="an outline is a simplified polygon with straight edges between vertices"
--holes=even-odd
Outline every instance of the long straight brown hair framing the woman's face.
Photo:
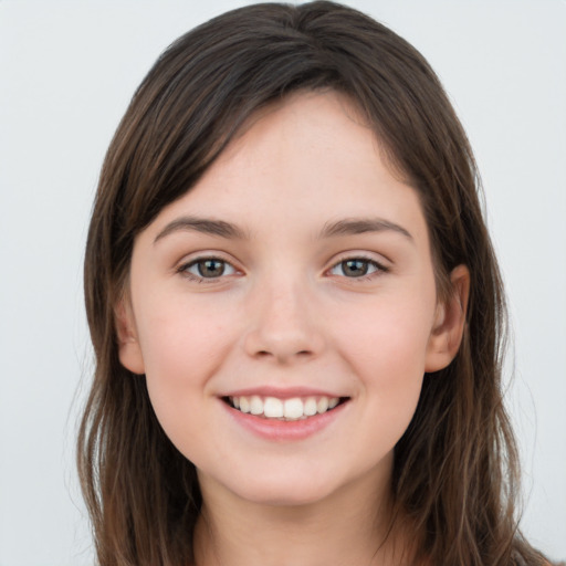
[{"label": "long straight brown hair framing the woman's face", "polygon": [[96,369],[77,454],[99,564],[190,562],[201,504],[195,467],[157,422],[145,378],[118,360],[114,308],[134,240],[195,186],[252,113],[319,88],[350,97],[418,191],[439,296],[454,266],[471,274],[462,346],[449,367],[424,377],[395,451],[396,510],[411,520],[417,559],[542,564],[517,531],[517,454],[501,391],[504,297],[470,145],[420,53],[331,2],[250,6],[181,36],[143,81],[111,144],[86,244]]}]

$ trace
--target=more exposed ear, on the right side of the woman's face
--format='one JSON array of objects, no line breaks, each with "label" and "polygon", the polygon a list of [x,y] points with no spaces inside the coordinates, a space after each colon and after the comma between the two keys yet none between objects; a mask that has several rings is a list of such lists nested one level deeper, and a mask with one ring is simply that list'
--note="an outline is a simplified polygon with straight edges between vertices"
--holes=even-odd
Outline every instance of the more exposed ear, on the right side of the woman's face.
[{"label": "more exposed ear, on the right side of the woman's face", "polygon": [[470,296],[470,271],[458,265],[450,274],[449,298],[437,305],[434,325],[427,346],[424,371],[438,371],[454,359],[465,327]]}]

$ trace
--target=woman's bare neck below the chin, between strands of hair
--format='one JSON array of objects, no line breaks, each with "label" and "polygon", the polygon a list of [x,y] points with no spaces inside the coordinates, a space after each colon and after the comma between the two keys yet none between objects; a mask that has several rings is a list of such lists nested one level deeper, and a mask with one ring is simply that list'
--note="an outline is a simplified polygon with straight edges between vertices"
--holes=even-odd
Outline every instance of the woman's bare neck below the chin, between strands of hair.
[{"label": "woman's bare neck below the chin, between strands of hair", "polygon": [[[389,482],[344,486],[323,501],[265,505],[202,481],[195,532],[197,566],[395,566],[402,556],[391,526]],[[397,525],[398,523],[396,523]]]}]

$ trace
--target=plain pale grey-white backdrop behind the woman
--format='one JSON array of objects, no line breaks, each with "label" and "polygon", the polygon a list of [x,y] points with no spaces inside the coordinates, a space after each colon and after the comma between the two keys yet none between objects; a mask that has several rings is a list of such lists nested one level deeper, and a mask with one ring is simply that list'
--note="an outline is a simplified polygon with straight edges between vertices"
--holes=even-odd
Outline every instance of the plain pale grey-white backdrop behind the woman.
[{"label": "plain pale grey-white backdrop behind the woman", "polygon": [[[0,566],[93,564],[73,444],[92,370],[81,271],[99,166],[157,55],[243,3],[0,0]],[[565,558],[566,3],[347,3],[424,54],[475,149],[514,327],[522,525]]]}]

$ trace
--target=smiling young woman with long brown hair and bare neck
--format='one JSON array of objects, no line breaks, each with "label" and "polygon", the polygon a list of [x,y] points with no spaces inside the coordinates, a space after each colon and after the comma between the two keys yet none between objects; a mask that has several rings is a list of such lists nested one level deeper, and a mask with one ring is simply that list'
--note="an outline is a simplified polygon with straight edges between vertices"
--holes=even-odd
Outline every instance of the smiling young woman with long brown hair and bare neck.
[{"label": "smiling young woman with long brown hair and bare neck", "polygon": [[478,189],[427,62],[359,12],[258,4],[174,43],[86,249],[99,564],[544,564]]}]

